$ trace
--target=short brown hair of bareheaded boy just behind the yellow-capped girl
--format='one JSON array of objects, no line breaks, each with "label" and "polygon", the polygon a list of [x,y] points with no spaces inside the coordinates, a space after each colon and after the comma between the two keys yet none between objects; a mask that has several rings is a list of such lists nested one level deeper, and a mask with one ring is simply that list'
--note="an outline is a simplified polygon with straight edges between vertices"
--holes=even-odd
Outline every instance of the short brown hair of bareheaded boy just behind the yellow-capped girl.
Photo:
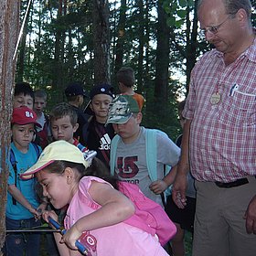
[{"label": "short brown hair of bareheaded boy just behind the yellow-capped girl", "polygon": [[58,120],[64,116],[68,115],[70,118],[70,123],[75,126],[78,123],[78,113],[75,109],[68,103],[62,102],[56,105],[49,113],[49,120]]}]

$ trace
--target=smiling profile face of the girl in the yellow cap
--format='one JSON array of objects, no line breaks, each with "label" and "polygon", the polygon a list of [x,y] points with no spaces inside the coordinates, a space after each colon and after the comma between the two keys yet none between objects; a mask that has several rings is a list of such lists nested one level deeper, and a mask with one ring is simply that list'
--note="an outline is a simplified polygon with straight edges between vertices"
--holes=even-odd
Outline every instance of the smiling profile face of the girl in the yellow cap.
[{"label": "smiling profile face of the girl in the yellow cap", "polygon": [[48,197],[54,208],[63,208],[70,201],[70,187],[65,174],[48,173],[47,168],[36,174],[38,182],[43,187],[43,196]]}]

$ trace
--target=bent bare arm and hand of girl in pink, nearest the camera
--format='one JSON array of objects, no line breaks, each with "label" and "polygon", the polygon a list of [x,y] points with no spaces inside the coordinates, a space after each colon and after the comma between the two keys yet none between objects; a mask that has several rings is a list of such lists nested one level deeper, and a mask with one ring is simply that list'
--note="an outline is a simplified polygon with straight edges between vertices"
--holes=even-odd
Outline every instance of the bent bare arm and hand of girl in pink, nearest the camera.
[{"label": "bent bare arm and hand of girl in pink, nearest the camera", "polygon": [[101,205],[101,208],[79,219],[63,235],[61,241],[71,249],[77,249],[75,241],[80,238],[83,231],[123,222],[130,218],[135,211],[132,201],[108,184],[92,181],[89,193],[92,199]]}]

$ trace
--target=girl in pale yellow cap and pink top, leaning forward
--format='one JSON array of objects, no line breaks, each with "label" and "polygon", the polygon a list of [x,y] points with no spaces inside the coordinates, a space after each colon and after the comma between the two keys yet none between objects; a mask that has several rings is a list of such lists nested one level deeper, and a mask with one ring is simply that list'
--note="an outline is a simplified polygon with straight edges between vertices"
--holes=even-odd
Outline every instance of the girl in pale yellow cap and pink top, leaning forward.
[{"label": "girl in pale yellow cap and pink top, leaning forward", "polygon": [[[101,178],[85,176],[89,165],[76,146],[58,141],[22,176],[36,175],[55,208],[69,205],[64,219],[69,230],[63,237],[55,234],[60,254],[80,255],[75,246],[80,240],[89,255],[168,255],[156,237],[124,223],[134,214],[132,201]],[[46,221],[48,216],[57,219],[52,211],[43,213]]]}]

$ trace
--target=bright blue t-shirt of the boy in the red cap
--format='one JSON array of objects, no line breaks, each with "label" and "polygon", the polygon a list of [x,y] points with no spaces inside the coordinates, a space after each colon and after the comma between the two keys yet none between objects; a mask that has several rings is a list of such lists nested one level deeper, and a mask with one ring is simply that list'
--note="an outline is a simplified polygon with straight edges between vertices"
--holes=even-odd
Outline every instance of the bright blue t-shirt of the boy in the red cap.
[{"label": "bright blue t-shirt of the boy in the red cap", "polygon": [[[28,151],[26,154],[20,152],[14,143],[11,144],[11,148],[14,152],[16,159],[17,176],[14,168],[10,165],[10,174],[8,177],[8,185],[15,185],[19,189],[27,201],[34,207],[37,208],[39,203],[37,201],[37,193],[35,185],[37,184],[36,178],[23,180],[19,178],[19,175],[27,171],[29,167],[37,162],[37,152],[32,144],[28,144]],[[39,147],[41,153],[41,148]],[[9,219],[30,219],[33,218],[33,214],[29,210],[23,207],[21,204],[16,202],[13,204],[13,197],[10,193],[7,193],[6,203],[6,217]]]}]

